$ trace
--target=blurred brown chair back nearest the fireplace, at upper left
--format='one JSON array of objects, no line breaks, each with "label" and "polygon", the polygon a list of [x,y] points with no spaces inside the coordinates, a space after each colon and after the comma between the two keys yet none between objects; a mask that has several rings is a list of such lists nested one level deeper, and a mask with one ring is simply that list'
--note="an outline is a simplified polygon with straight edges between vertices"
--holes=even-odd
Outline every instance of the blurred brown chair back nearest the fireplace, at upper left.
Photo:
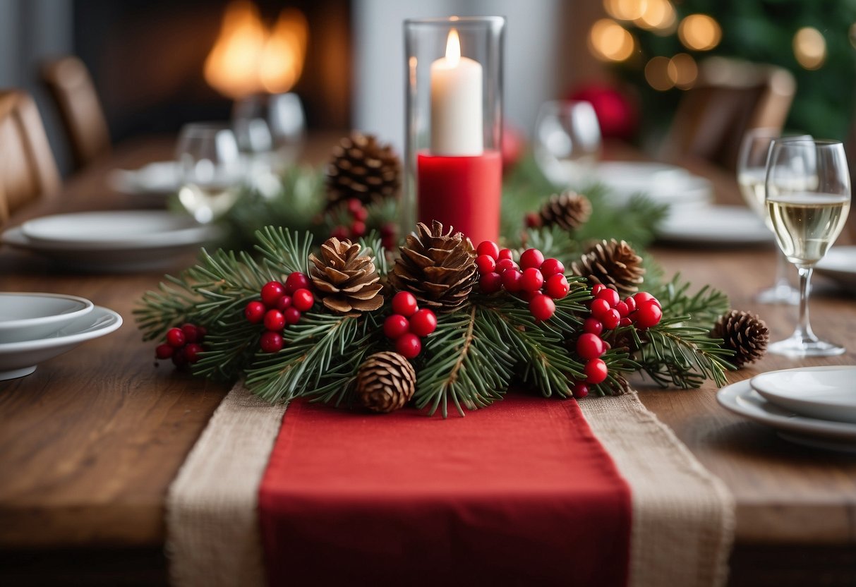
[{"label": "blurred brown chair back nearest the fireplace, at upper left", "polygon": [[110,131],[86,65],[66,56],[45,62],[41,78],[56,103],[75,169],[110,152]]}]

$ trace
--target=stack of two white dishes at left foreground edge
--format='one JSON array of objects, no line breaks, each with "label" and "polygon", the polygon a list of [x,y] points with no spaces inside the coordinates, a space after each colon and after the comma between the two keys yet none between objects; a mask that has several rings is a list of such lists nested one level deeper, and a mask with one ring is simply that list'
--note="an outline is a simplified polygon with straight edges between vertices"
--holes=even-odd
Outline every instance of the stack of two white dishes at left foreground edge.
[{"label": "stack of two white dishes at left foreground edge", "polygon": [[0,381],[122,326],[115,311],[63,294],[0,294]]}]

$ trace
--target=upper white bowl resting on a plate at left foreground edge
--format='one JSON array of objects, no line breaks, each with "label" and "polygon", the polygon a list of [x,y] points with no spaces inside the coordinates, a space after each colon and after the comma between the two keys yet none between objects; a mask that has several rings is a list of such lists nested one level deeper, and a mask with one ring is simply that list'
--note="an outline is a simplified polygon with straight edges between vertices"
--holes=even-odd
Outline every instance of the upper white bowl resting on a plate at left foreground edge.
[{"label": "upper white bowl resting on a plate at left foreground edge", "polygon": [[63,294],[0,294],[0,343],[44,338],[92,311],[92,302]]}]

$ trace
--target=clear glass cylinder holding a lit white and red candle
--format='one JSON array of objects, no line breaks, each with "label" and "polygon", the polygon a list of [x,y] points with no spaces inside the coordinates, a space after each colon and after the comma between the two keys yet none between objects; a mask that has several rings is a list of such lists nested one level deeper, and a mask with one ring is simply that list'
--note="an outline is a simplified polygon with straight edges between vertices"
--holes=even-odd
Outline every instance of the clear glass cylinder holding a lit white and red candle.
[{"label": "clear glass cylinder holding a lit white and red candle", "polygon": [[502,16],[404,22],[404,234],[437,220],[499,239],[504,29]]}]

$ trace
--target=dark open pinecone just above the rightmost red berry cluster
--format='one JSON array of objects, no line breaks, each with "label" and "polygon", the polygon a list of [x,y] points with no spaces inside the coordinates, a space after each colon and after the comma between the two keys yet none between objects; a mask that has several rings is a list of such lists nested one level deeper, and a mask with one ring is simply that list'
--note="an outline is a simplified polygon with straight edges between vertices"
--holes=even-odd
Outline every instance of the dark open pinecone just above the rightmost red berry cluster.
[{"label": "dark open pinecone just above the rightmost red berry cluster", "polygon": [[639,291],[645,269],[642,258],[623,240],[602,240],[571,264],[575,276],[586,277],[590,285],[603,283],[622,298]]}]

